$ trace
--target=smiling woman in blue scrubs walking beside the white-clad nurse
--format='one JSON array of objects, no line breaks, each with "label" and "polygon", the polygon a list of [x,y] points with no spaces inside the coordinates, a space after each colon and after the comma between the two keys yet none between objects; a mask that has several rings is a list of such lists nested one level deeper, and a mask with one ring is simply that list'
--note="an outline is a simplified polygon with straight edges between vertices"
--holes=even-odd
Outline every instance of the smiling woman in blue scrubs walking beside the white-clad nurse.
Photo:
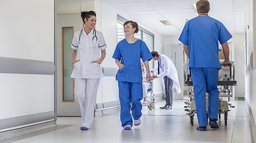
[{"label": "smiling woman in blue scrubs walking beside the white-clad nurse", "polygon": [[[146,67],[146,80],[150,81],[151,75],[148,61],[153,57],[145,42],[134,37],[134,33],[138,33],[139,31],[138,23],[126,21],[123,27],[126,39],[123,39],[117,44],[112,58],[115,59],[119,68],[116,74],[116,80],[118,81],[119,88],[122,127],[125,130],[131,130],[133,119],[135,126],[141,123],[142,105],[140,100],[142,99],[143,91],[140,59],[142,59]],[[132,103],[132,116],[130,103]]]}]

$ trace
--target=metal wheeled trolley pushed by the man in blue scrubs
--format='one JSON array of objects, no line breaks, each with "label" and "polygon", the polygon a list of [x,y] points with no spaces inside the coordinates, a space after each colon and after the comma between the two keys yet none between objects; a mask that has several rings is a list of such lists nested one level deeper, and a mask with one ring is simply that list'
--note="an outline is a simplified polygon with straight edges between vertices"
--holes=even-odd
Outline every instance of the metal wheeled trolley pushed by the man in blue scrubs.
[{"label": "metal wheeled trolley pushed by the man in blue scrubs", "polygon": [[[229,102],[229,98],[232,97],[232,86],[237,85],[237,81],[234,80],[234,66],[229,64],[229,78],[228,77],[219,77],[218,87],[219,87],[219,119],[221,119],[221,114],[224,113],[225,126],[227,125],[227,116],[229,107],[234,108],[234,106]],[[232,75],[233,72],[233,75]],[[190,73],[191,75],[191,73]],[[190,76],[189,75],[189,76]],[[189,79],[189,78],[188,78]],[[220,80],[221,79],[221,80]],[[231,80],[232,79],[232,80]],[[193,94],[193,81],[184,81],[184,85],[188,87],[188,97],[190,98],[185,102],[186,106],[185,111],[186,115],[190,117],[190,124],[194,125],[194,116],[196,113],[196,105],[194,101]],[[223,100],[223,97],[227,97],[228,101]],[[206,93],[206,110],[207,110],[207,119],[208,119],[208,94]]]}]

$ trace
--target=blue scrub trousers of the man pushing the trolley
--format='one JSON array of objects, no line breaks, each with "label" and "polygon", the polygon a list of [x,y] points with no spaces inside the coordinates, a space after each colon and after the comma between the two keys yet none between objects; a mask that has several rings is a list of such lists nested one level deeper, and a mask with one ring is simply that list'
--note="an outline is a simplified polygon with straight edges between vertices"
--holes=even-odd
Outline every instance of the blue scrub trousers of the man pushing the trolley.
[{"label": "blue scrub trousers of the man pushing the trolley", "polygon": [[196,68],[190,67],[193,80],[197,119],[199,126],[207,125],[207,112],[205,92],[208,93],[208,115],[209,119],[218,120],[219,113],[219,90],[218,74],[219,68]]}]

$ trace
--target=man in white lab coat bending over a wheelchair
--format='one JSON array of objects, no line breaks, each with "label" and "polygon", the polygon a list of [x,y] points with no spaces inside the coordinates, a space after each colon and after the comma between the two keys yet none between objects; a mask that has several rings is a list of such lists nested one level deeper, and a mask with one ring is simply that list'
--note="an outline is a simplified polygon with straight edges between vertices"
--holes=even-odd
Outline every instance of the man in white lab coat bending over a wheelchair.
[{"label": "man in white lab coat bending over a wheelchair", "polygon": [[152,78],[162,79],[165,91],[165,105],[161,109],[172,109],[173,107],[173,88],[177,93],[181,93],[177,70],[173,62],[164,54],[158,54],[157,51],[151,52],[154,61],[158,61],[158,67],[155,67],[151,72],[158,75],[153,75]]}]

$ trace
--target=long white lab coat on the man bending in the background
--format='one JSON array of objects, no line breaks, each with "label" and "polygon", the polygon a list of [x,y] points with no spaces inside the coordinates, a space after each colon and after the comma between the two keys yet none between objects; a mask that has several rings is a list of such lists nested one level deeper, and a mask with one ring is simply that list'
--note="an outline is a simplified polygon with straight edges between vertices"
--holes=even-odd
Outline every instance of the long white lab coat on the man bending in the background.
[{"label": "long white lab coat on the man bending in the background", "polygon": [[[173,88],[176,89],[178,94],[181,93],[178,73],[174,66],[174,63],[166,55],[164,54],[159,54],[159,55],[160,55],[160,58],[158,60],[160,60],[163,70],[161,68],[159,69],[160,73],[158,73],[157,77],[159,79],[162,79],[163,87],[164,87],[163,77],[164,76],[169,77],[170,79],[173,80]],[[156,73],[157,69],[158,69],[158,66],[153,69],[153,72]]]}]

